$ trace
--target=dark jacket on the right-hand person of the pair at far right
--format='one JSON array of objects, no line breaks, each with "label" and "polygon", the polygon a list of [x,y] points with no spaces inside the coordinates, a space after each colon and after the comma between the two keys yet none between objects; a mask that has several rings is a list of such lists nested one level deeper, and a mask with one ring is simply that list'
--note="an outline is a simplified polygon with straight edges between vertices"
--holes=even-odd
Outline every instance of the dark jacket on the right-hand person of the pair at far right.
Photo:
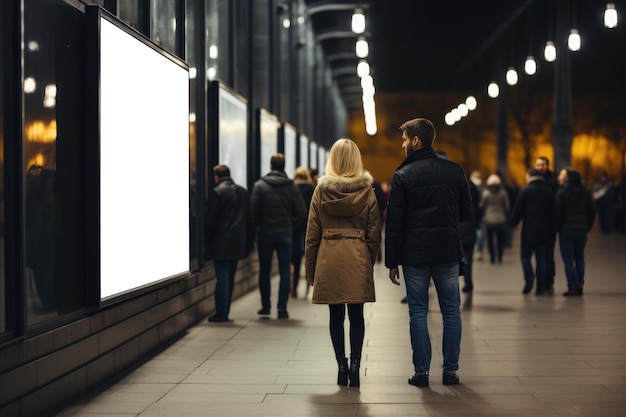
[{"label": "dark jacket on the right-hand person of the pair at far right", "polygon": [[589,231],[595,220],[596,210],[591,193],[583,186],[565,183],[556,192],[554,200],[554,226],[557,231]]}]

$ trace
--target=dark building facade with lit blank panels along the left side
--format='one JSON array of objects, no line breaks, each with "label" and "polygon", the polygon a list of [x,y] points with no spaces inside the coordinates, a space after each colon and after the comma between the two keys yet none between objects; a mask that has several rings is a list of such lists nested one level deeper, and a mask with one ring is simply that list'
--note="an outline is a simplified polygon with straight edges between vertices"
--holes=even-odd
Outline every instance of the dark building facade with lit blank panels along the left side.
[{"label": "dark building facade with lit blank panels along the left side", "polygon": [[[0,416],[32,416],[213,310],[203,213],[214,165],[239,164],[246,187],[267,153],[322,170],[347,115],[303,0],[5,0],[0,20]],[[131,45],[172,64],[185,88],[151,78],[160,64]],[[187,105],[173,106],[167,94],[181,90]],[[143,221],[154,213],[165,218]],[[165,231],[174,217],[180,235]],[[181,247],[176,266],[159,267],[155,251]],[[235,297],[256,285],[251,254]]]}]

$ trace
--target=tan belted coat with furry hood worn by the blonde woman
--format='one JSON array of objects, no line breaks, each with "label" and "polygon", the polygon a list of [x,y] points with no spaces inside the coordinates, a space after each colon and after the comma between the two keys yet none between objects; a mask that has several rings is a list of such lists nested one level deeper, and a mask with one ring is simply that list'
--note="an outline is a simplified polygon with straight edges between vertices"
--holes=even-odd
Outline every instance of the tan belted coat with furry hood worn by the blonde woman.
[{"label": "tan belted coat with furry hood worn by the blonde woman", "polygon": [[372,177],[319,178],[306,233],[305,269],[313,303],[376,301],[374,264],[381,242]]}]

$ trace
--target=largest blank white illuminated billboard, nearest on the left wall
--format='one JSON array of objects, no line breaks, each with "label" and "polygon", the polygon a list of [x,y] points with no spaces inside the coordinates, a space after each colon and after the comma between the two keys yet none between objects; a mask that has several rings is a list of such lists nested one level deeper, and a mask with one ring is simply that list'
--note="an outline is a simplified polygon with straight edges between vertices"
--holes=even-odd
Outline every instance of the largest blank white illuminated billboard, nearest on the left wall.
[{"label": "largest blank white illuminated billboard, nearest on the left wall", "polygon": [[104,16],[99,25],[104,299],[189,270],[189,71]]}]

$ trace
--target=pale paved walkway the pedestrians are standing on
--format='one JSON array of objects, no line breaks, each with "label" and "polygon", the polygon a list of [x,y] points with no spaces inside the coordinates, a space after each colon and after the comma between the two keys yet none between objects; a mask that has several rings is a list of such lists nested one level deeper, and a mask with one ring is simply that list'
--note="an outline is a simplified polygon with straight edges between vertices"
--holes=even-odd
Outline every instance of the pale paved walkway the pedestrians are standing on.
[{"label": "pale paved walkway the pedestrians are standing on", "polygon": [[[261,319],[253,291],[233,303],[234,321],[197,325],[58,416],[624,416],[626,236],[594,231],[586,261],[581,298],[561,295],[558,249],[555,296],[522,295],[517,235],[501,265],[475,262],[474,294],[462,295],[457,386],[441,384],[434,289],[430,387],[407,384],[413,368],[407,307],[400,304],[404,284],[391,284],[377,264],[378,301],[365,306],[360,389],[336,385],[326,306],[291,299],[289,320],[277,320],[275,309]],[[276,279],[272,290],[275,301]]]}]

